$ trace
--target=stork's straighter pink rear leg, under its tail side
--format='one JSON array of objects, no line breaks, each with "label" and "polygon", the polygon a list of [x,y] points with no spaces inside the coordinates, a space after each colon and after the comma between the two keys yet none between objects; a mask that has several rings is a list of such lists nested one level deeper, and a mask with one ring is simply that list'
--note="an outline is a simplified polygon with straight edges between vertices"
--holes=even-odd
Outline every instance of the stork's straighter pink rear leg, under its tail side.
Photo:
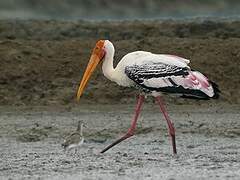
[{"label": "stork's straighter pink rear leg, under its tail side", "polygon": [[166,110],[166,108],[163,104],[162,98],[160,96],[157,96],[156,100],[157,100],[157,103],[160,106],[160,110],[162,111],[162,113],[163,113],[163,115],[164,115],[164,117],[167,121],[167,124],[168,124],[169,135],[172,138],[173,153],[177,154],[176,140],[175,140],[175,128],[174,128],[173,123],[171,122],[171,120],[168,116],[168,113],[167,113],[167,110]]}]

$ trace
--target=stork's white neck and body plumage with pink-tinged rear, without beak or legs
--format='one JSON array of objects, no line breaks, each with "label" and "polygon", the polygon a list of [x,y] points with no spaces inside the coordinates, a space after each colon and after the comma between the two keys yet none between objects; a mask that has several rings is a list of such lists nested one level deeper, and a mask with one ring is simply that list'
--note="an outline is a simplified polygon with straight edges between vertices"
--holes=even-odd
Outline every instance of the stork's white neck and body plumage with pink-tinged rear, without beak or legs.
[{"label": "stork's white neck and body plumage with pink-tinged rear, without beak or legs", "polygon": [[[135,51],[125,55],[116,68],[114,68],[114,46],[110,41],[106,40],[104,48],[106,54],[102,66],[103,74],[109,80],[114,81],[121,86],[142,86],[145,89],[149,89],[153,96],[160,95],[161,90],[167,92],[167,88],[174,91],[174,87],[178,88],[177,92],[179,91],[180,94],[181,89],[183,89],[184,92],[191,92],[190,90],[199,91],[209,98],[214,96],[214,89],[211,83],[209,83],[208,79],[203,74],[190,69],[188,66],[190,61],[188,59],[174,55]],[[134,70],[137,71],[139,75],[142,73],[147,77],[151,74],[151,78],[145,78],[141,75],[141,79],[136,79],[135,81],[134,74],[131,74],[132,76],[130,78],[129,74],[126,73],[128,72],[127,70],[132,67],[135,68]],[[171,68],[173,70],[172,72]],[[168,72],[166,73],[164,70]],[[175,73],[176,70],[184,70],[183,73],[185,74],[177,74]],[[141,83],[138,83],[140,80]]]}]

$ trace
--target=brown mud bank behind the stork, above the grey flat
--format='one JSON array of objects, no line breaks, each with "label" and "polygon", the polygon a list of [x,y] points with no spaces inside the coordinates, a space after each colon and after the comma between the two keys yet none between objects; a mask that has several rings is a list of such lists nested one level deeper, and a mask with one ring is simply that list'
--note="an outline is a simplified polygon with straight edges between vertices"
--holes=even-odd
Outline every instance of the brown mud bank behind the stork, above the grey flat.
[{"label": "brown mud bank behind the stork, above the grey flat", "polygon": [[[240,103],[239,21],[1,20],[0,105],[74,104],[81,75],[98,39],[113,42],[116,63],[135,50],[188,58],[193,69],[219,84],[219,101]],[[99,67],[82,103],[134,102],[134,94],[106,80]]]}]

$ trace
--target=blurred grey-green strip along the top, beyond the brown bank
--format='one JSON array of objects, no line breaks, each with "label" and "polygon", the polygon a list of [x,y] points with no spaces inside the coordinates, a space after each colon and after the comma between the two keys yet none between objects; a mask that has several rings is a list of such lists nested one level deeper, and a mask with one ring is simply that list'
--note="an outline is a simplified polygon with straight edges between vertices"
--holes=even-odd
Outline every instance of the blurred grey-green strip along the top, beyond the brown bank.
[{"label": "blurred grey-green strip along the top, beyond the brown bank", "polygon": [[238,18],[239,0],[1,0],[0,18]]}]

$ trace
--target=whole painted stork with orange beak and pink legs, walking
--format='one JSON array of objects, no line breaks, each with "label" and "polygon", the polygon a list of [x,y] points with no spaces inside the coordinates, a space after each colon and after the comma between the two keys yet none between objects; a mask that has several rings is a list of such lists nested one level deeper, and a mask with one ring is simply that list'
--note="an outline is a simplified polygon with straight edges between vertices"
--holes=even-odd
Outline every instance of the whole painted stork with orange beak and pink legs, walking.
[{"label": "whole painted stork with orange beak and pink legs, walking", "polygon": [[114,68],[114,52],[114,46],[109,40],[99,40],[96,43],[77,92],[77,100],[79,101],[91,74],[101,61],[104,76],[120,86],[140,89],[141,93],[131,127],[124,136],[106,147],[101,153],[134,135],[145,95],[152,95],[167,121],[173,153],[176,154],[175,128],[164,107],[162,92],[180,94],[185,98],[210,99],[219,97],[218,86],[202,73],[191,70],[188,66],[190,61],[182,57],[135,51],[125,55]]}]

